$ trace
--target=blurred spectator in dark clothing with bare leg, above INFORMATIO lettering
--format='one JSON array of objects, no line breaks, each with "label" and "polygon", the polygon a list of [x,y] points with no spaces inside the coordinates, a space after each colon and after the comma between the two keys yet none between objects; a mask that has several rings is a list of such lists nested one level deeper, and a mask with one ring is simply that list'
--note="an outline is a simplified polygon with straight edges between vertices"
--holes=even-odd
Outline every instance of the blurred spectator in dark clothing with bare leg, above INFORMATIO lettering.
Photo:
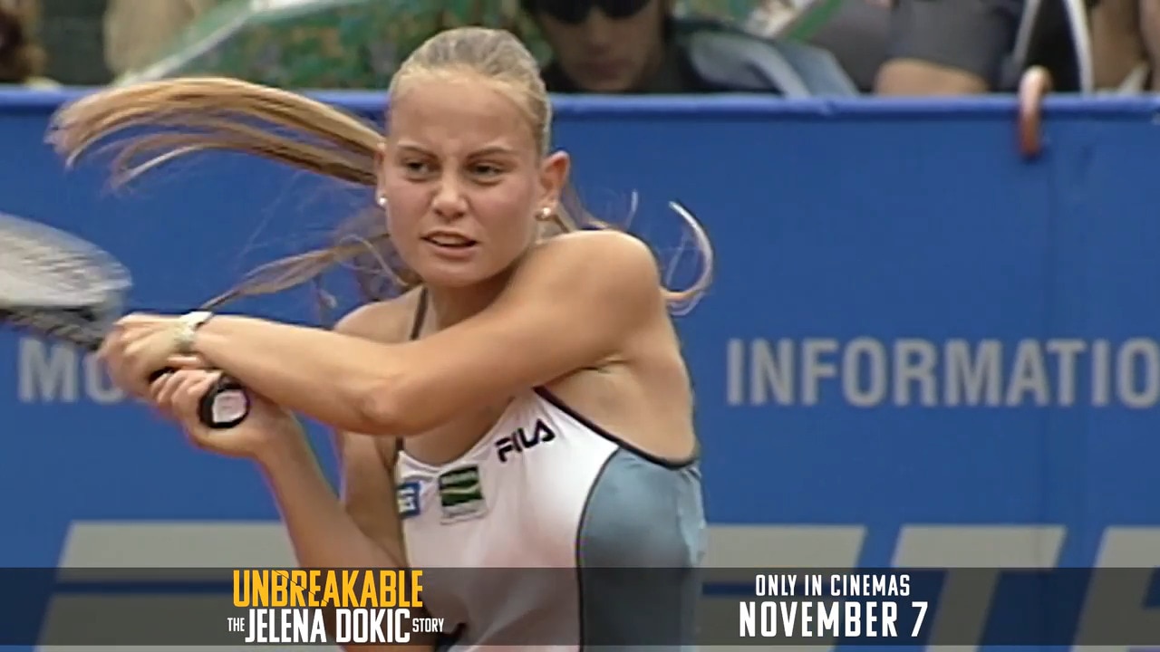
[{"label": "blurred spectator in dark clothing with bare leg, above INFORMATIO lettering", "polygon": [[[879,0],[880,1],[880,0]],[[1080,67],[1068,0],[893,0],[883,95],[967,95],[1012,90],[1031,65],[1056,88],[1078,90]],[[1032,8],[1032,9],[1029,9]],[[1075,26],[1086,38],[1087,21]]]}]

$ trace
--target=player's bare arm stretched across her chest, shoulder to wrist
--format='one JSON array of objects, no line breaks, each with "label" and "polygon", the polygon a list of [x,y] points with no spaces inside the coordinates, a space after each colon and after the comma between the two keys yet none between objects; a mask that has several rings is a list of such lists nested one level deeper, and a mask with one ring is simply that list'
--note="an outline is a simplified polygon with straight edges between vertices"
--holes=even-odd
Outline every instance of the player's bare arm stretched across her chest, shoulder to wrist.
[{"label": "player's bare arm stretched across her chest, shoulder to wrist", "polygon": [[339,429],[405,436],[594,364],[664,314],[655,259],[616,232],[536,247],[480,313],[421,340],[384,345],[219,316],[195,349],[289,410]]}]

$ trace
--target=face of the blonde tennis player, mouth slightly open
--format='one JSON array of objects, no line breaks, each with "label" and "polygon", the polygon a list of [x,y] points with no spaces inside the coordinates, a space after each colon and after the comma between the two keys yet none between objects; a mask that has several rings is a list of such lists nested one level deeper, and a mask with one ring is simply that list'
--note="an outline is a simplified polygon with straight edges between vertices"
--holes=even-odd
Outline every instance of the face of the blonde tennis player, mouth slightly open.
[{"label": "face of the blonde tennis player, mouth slightly open", "polygon": [[379,174],[391,240],[427,284],[486,281],[535,242],[536,216],[554,208],[566,157],[557,175],[559,167],[542,161],[528,114],[493,84],[408,80],[392,99]]}]

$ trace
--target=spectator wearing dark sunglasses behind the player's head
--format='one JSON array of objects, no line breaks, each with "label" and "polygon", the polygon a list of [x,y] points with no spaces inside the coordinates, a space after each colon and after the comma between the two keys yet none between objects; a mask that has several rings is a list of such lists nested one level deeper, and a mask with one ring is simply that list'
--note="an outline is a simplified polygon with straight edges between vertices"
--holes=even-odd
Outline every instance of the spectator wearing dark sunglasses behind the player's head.
[{"label": "spectator wearing dark sunglasses behind the player's head", "polygon": [[673,15],[674,0],[522,0],[552,49],[552,93],[853,95],[832,55]]}]

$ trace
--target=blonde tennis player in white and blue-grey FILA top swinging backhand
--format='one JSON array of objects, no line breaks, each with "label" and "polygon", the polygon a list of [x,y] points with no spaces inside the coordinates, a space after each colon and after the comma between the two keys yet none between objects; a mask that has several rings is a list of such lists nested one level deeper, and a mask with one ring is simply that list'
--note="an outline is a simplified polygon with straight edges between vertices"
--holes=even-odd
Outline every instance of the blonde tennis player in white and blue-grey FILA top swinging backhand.
[{"label": "blonde tennis player in white and blue-grey FILA top swinging backhand", "polygon": [[[708,283],[703,231],[682,213],[706,254],[682,295],[628,234],[549,237],[571,229],[570,161],[549,151],[536,61],[505,31],[441,32],[389,94],[385,138],[311,100],[220,79],[110,89],[64,109],[53,139],[71,157],[122,126],[197,128],[122,142],[154,157],[124,178],[173,152],[233,148],[374,183],[386,230],[375,241],[405,263],[392,268],[400,282],[418,281],[334,332],[131,314],[101,350],[114,379],[198,447],[254,459],[303,566],[494,568],[425,585],[458,646],[690,643],[705,521],[669,309]],[[259,131],[255,118],[312,140]],[[182,369],[150,384],[166,365]],[[231,430],[197,421],[210,369],[254,392]],[[341,498],[291,412],[340,432]],[[553,570],[499,570],[529,567]]]}]

